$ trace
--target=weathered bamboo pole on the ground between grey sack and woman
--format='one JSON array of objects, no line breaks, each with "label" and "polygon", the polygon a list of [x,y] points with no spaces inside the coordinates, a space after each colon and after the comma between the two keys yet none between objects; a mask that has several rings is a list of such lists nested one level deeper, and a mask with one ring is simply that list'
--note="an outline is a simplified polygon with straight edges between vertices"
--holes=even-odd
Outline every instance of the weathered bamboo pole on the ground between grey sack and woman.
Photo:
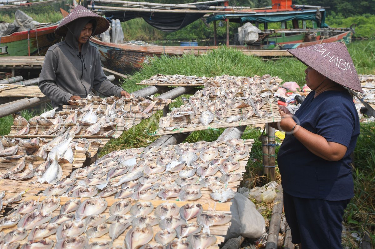
[{"label": "weathered bamboo pole on the ground between grey sack and woman", "polygon": [[268,230],[266,249],[278,249],[281,213],[284,205],[283,189],[281,184],[276,187],[277,194],[273,201],[270,227]]}]

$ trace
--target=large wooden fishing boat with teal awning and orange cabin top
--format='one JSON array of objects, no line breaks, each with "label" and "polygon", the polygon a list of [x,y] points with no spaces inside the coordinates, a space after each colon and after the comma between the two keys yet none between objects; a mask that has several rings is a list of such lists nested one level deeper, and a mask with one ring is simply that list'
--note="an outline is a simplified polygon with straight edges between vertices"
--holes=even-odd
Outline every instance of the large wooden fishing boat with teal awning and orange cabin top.
[{"label": "large wooden fishing boat with teal awning and orange cabin top", "polygon": [[[99,3],[112,3],[110,0],[98,0]],[[136,4],[129,1],[117,1],[120,4]],[[213,22],[214,28],[214,44],[216,44],[216,22],[225,21],[227,23],[227,41],[226,46],[236,48],[246,55],[256,56],[290,56],[286,49],[311,46],[314,44],[344,41],[351,42],[351,35],[353,29],[351,28],[330,28],[325,23],[326,10],[319,6],[296,6],[291,4],[291,0],[272,0],[272,7],[261,9],[246,9],[246,7],[226,7],[230,11],[223,10],[206,10],[206,12],[213,12],[207,17],[206,22]],[[143,3],[146,4],[146,3]],[[154,3],[147,3],[150,8],[144,7],[142,9],[134,9],[129,7],[113,7],[113,6],[98,6],[101,13],[104,13],[108,18],[120,19],[120,21],[127,21],[135,17],[142,17],[148,24],[160,30],[167,31],[181,28],[179,22],[166,22],[165,15],[170,15],[180,20],[187,13],[190,15],[199,12],[203,15],[201,10],[176,10],[176,9],[152,9],[152,6],[159,5]],[[165,7],[168,4],[163,4]],[[92,7],[92,6],[89,6]],[[189,6],[181,6],[189,7]],[[210,6],[213,7],[213,6]],[[219,6],[220,7],[220,6]],[[219,8],[215,7],[215,8]],[[223,6],[222,6],[223,7]],[[233,8],[233,9],[231,9]],[[235,9],[244,8],[244,9]],[[152,18],[150,13],[152,12]],[[158,13],[160,12],[160,13]],[[170,13],[169,13],[170,12]],[[191,13],[190,13],[191,12]],[[199,18],[199,15],[195,18]],[[152,19],[152,20],[151,20]],[[190,19],[191,23],[192,20]],[[259,33],[259,39],[251,44],[244,44],[245,46],[229,46],[229,22],[237,22],[245,24],[251,22],[255,26],[263,26],[263,30]],[[268,29],[268,24],[277,22],[280,25],[279,29]],[[261,25],[260,25],[261,24]],[[293,28],[287,27],[293,25]],[[101,56],[102,65],[120,73],[129,72],[133,69],[138,70],[143,63],[149,61],[149,57],[161,55],[180,56],[188,53],[200,55],[209,50],[217,49],[218,46],[138,46],[128,44],[117,44],[102,42],[99,39],[91,39],[90,44],[95,46]]]}]

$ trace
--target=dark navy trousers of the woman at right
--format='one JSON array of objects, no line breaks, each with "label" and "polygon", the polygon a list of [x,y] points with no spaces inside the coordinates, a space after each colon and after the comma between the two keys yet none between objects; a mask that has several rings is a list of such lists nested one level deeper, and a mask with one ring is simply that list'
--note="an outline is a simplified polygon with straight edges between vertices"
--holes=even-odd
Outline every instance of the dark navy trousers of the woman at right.
[{"label": "dark navy trousers of the woman at right", "polygon": [[327,201],[291,196],[284,191],[284,212],[292,243],[302,249],[342,249],[342,216],[349,200]]}]

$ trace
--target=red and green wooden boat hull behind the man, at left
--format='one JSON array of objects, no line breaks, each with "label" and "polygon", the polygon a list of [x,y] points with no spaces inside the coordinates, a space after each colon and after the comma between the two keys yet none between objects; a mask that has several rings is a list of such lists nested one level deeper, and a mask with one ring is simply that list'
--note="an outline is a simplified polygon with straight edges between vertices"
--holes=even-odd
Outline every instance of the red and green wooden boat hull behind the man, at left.
[{"label": "red and green wooden boat hull behind the man, at left", "polygon": [[0,37],[0,56],[45,55],[62,37],[53,33],[58,24],[20,31]]}]

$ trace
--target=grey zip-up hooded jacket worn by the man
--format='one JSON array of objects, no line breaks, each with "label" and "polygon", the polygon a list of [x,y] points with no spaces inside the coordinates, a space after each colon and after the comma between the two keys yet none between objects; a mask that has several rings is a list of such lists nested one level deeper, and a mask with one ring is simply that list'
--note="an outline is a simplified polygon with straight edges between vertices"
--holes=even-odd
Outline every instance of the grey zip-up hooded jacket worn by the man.
[{"label": "grey zip-up hooded jacket worn by the man", "polygon": [[[87,41],[79,52],[78,38],[90,19],[80,18],[68,24],[65,41],[54,44],[46,52],[38,86],[58,110],[68,104],[71,96],[85,98],[92,89],[105,96],[121,96],[123,89],[105,76],[98,50]],[[93,26],[94,32],[96,25]]]}]

